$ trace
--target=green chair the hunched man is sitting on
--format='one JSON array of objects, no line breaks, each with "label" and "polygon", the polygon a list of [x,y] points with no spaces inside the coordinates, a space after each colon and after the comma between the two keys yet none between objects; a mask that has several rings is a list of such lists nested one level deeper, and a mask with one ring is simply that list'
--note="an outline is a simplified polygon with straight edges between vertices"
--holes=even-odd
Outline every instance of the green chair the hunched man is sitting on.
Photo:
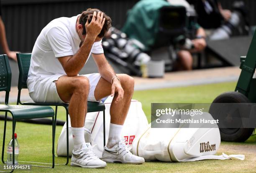
[{"label": "green chair the hunched man is sitting on", "polygon": [[[21,89],[27,88],[27,78],[28,78],[28,70],[30,66],[30,60],[31,60],[31,53],[17,53],[17,59],[18,59],[18,67],[19,67],[19,81],[18,81],[18,99],[17,99],[17,105],[46,105],[46,106],[55,106],[55,127],[56,127],[56,120],[57,120],[57,109],[58,106],[63,106],[66,110],[66,119],[67,119],[67,162],[65,165],[69,163],[69,128],[68,128],[68,115],[69,115],[69,105],[65,103],[22,103],[20,101],[20,92]],[[102,102],[87,102],[87,113],[90,112],[99,112],[103,111],[103,144],[105,146],[105,105]],[[54,131],[55,132],[55,131]]]}]

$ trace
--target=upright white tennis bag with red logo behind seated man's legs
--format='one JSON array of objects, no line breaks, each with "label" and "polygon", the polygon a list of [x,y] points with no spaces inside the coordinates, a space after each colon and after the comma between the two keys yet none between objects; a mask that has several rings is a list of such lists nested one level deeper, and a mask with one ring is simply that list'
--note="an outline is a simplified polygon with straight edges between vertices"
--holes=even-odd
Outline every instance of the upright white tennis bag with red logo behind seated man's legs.
[{"label": "upright white tennis bag with red logo behind seated man's legs", "polygon": [[[105,104],[105,130],[106,130],[106,143],[108,142],[109,124],[110,124],[110,104],[113,97],[108,97]],[[67,123],[67,122],[66,122]],[[59,136],[57,145],[57,155],[67,156],[67,125],[64,124],[61,134]],[[142,110],[141,103],[137,100],[131,100],[131,105],[125,119],[122,130],[122,136],[127,141],[127,147],[132,150],[133,139],[138,133],[143,132],[148,127],[148,120]],[[99,158],[102,158],[103,152],[103,113],[94,112],[87,113],[84,121],[84,138],[86,142],[96,146],[93,148],[94,152]],[[69,156],[72,155],[74,142],[72,138],[71,123],[69,118]]]}]

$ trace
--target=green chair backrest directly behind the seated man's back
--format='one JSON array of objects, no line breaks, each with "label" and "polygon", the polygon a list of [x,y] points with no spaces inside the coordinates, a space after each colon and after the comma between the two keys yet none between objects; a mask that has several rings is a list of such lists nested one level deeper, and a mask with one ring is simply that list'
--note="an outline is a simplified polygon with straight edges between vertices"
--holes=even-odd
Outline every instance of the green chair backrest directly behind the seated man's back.
[{"label": "green chair backrest directly behind the seated man's back", "polygon": [[18,90],[27,87],[28,70],[30,66],[31,53],[17,53],[18,67],[19,67],[19,82]]}]

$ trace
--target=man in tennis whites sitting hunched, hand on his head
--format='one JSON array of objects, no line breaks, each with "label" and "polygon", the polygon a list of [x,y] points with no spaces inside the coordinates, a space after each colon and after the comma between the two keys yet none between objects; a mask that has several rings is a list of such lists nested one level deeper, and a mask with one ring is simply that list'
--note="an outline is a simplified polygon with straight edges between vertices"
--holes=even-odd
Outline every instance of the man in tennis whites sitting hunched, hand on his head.
[{"label": "man in tennis whites sitting hunched, hand on his head", "polygon": [[[72,18],[57,18],[41,31],[32,51],[27,80],[31,98],[41,103],[69,103],[74,140],[72,166],[102,168],[105,161],[144,163],[120,139],[134,80],[128,75],[116,75],[104,56],[101,40],[110,26],[110,17],[98,9],[87,9]],[[91,53],[99,73],[78,75]],[[102,161],[90,143],[85,143],[84,119],[87,101],[96,102],[108,95],[114,98]]]}]

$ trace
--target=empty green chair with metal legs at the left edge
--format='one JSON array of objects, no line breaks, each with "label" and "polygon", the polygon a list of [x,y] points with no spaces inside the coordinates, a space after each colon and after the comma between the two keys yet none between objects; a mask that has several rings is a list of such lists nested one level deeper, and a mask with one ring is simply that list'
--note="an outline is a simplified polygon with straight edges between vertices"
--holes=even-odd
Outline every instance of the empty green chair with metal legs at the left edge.
[{"label": "empty green chair with metal legs at the left edge", "polygon": [[[9,112],[13,117],[13,128],[12,128],[13,139],[14,139],[16,120],[26,120],[26,119],[33,119],[33,118],[52,118],[52,122],[53,122],[52,123],[52,166],[50,168],[54,168],[54,130],[55,130],[54,110],[49,106],[8,105],[11,78],[12,78],[12,73],[10,70],[8,57],[7,55],[0,55],[0,91],[5,91],[5,104],[0,105],[0,112],[5,112],[2,162],[5,163],[4,161],[5,132],[6,132],[7,113]],[[14,140],[12,144],[14,148]],[[13,150],[13,155],[14,154],[15,154],[15,150]],[[13,159],[13,165],[14,165],[14,159]],[[44,167],[49,167],[49,166],[44,166]],[[5,172],[5,171],[1,171],[1,172]],[[13,170],[11,170],[10,172],[13,172]]]}]

